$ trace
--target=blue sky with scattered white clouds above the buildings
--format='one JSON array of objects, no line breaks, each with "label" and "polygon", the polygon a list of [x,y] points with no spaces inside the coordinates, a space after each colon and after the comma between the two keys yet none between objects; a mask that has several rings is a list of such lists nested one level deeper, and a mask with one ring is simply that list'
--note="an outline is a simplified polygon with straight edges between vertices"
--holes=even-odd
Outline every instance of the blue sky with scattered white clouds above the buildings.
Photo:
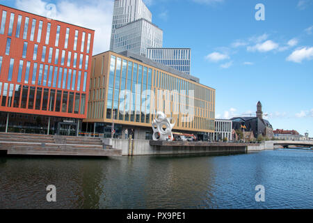
[{"label": "blue sky with scattered white clouds above the buildings", "polygon": [[[216,89],[216,118],[255,116],[313,137],[313,0],[144,0],[163,47],[191,48],[191,75]],[[0,0],[95,29],[109,50],[113,0]],[[256,5],[264,6],[264,20]]]}]

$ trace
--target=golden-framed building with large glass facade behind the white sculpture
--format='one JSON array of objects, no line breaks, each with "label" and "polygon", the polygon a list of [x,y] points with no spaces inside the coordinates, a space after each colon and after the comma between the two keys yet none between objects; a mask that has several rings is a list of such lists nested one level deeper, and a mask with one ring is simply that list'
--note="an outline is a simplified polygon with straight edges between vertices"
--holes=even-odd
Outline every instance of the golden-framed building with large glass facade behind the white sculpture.
[{"label": "golden-framed building with large glass facade behind the white sculpture", "polygon": [[[174,132],[214,132],[215,89],[184,72],[132,52],[93,56],[88,116],[83,130],[111,137],[152,139],[152,120],[164,112]],[[133,130],[133,131],[132,131]]]}]

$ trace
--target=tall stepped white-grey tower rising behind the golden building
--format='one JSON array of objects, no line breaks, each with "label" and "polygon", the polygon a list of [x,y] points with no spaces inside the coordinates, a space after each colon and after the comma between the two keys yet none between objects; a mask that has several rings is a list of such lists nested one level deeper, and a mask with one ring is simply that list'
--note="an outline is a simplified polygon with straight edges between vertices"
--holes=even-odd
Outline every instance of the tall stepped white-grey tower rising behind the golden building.
[{"label": "tall stepped white-grey tower rising behind the golden building", "polygon": [[147,47],[162,47],[163,31],[152,24],[152,13],[142,0],[115,0],[110,50],[129,50],[146,56]]}]

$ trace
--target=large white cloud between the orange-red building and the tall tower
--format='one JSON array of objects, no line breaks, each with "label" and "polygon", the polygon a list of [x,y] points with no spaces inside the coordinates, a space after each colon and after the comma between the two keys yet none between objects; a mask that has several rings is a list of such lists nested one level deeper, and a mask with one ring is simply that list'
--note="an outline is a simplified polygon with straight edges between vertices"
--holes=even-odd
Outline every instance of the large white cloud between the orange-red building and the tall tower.
[{"label": "large white cloud between the orange-red building and the tall tower", "polygon": [[[51,4],[42,0],[17,0],[20,10],[50,17]],[[53,5],[52,5],[53,6]],[[58,0],[56,1],[55,20],[83,26],[95,30],[93,54],[109,50],[113,1],[111,0]]]}]

